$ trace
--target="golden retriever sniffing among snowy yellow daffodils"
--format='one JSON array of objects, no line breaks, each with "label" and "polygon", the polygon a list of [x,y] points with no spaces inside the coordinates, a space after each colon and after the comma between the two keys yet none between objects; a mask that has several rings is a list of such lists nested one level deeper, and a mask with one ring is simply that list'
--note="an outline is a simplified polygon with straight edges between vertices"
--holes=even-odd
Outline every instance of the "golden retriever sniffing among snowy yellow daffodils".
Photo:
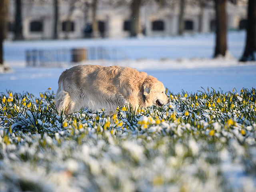
[{"label": "golden retriever sniffing among snowy yellow daffodils", "polygon": [[162,82],[145,72],[120,66],[78,65],[65,70],[58,80],[56,107],[70,114],[81,108],[104,108],[109,115],[118,106],[162,106],[170,102]]}]

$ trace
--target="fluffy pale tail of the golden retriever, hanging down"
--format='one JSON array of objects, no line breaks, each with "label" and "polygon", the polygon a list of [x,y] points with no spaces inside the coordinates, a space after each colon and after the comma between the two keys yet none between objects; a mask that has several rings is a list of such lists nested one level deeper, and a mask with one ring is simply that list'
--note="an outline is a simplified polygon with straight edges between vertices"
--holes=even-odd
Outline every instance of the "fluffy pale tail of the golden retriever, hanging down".
[{"label": "fluffy pale tail of the golden retriever, hanging down", "polygon": [[56,92],[56,97],[55,97],[55,105],[58,110],[58,112],[64,112],[66,111],[69,113],[69,106],[70,106],[71,98],[68,92],[61,90],[58,88]]}]

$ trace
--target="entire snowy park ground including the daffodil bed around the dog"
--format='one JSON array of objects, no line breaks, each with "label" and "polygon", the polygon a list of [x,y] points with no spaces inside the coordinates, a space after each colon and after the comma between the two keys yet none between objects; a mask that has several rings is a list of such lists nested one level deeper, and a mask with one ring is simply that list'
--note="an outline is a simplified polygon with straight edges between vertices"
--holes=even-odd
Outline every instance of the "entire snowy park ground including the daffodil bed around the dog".
[{"label": "entire snowy park ground including the daffodil bed around the dog", "polygon": [[[217,59],[213,34],[5,42],[12,70],[0,73],[0,191],[255,192],[256,64],[238,62],[244,38],[230,32],[230,56]],[[83,64],[146,71],[171,101],[120,106],[112,117],[58,114],[58,77],[73,65],[26,67],[25,51],[90,46],[121,50],[126,60]]]}]

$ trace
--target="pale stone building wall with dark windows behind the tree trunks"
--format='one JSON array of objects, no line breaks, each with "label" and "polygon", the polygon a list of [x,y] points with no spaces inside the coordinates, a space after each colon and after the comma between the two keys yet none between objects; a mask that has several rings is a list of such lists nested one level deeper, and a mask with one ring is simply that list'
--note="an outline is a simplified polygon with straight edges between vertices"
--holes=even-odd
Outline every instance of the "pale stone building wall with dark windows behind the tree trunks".
[{"label": "pale stone building wall with dark windows behind the tree trunks", "polygon": [[[13,25],[15,18],[14,0],[9,6],[9,33],[8,38],[13,38]],[[45,2],[23,1],[22,24],[24,39],[50,39],[53,38],[54,10],[53,1]],[[151,1],[152,2],[152,1]],[[228,29],[239,30],[245,28],[246,4],[227,3]],[[160,7],[157,3],[145,4],[140,10],[140,26],[142,35],[149,37],[174,36],[178,33],[179,7]],[[84,38],[90,37],[91,9],[75,5],[71,10],[66,2],[59,6],[59,38]],[[130,10],[128,5],[113,7],[100,3],[96,18],[98,20],[100,36],[103,38],[125,38],[129,33]],[[66,31],[67,21],[71,22],[70,29]],[[205,8],[188,5],[184,13],[184,32],[195,34],[198,32],[209,33],[215,28],[215,12],[213,4]]]}]

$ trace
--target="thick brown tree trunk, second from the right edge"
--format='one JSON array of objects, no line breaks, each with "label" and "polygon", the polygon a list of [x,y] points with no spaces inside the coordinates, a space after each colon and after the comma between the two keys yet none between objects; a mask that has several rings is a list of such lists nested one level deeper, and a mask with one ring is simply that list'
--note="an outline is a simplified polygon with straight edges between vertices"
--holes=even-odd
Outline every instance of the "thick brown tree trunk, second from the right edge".
[{"label": "thick brown tree trunk, second from the right edge", "polygon": [[216,43],[214,57],[225,56],[227,50],[226,0],[214,0],[216,13]]}]

